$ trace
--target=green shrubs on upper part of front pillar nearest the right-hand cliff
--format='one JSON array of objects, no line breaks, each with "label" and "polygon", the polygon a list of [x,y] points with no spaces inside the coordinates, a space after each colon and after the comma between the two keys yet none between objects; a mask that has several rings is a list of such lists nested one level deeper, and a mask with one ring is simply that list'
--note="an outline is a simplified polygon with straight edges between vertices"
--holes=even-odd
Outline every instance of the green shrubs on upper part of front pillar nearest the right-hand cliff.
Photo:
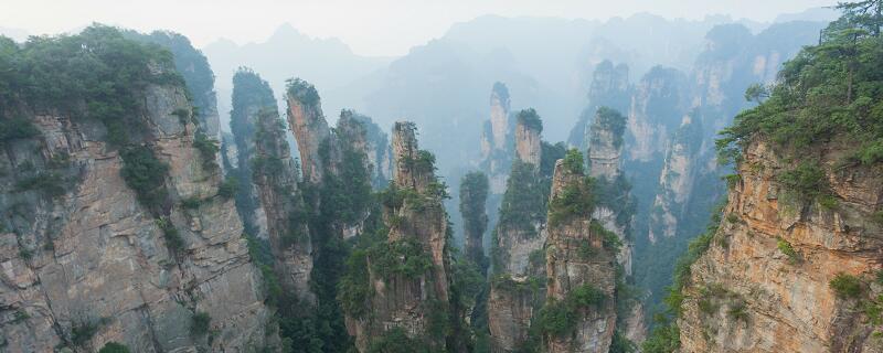
[{"label": "green shrubs on upper part of front pillar nearest the right-hand cliff", "polygon": [[595,210],[594,179],[582,178],[564,189],[549,202],[549,225],[557,226],[571,220],[589,220]]}]

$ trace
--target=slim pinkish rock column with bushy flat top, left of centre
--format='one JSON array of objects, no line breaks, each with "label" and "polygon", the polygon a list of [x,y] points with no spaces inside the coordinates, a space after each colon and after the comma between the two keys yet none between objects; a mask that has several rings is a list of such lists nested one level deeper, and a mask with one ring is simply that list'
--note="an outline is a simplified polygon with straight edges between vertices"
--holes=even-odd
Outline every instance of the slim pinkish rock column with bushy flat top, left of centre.
[{"label": "slim pinkish rock column with bushy flat top, left of centre", "polygon": [[295,78],[288,82],[286,94],[288,103],[288,125],[295,132],[300,151],[300,165],[304,180],[311,183],[322,181],[320,150],[327,143],[331,130],[322,114],[322,105],[316,87]]}]

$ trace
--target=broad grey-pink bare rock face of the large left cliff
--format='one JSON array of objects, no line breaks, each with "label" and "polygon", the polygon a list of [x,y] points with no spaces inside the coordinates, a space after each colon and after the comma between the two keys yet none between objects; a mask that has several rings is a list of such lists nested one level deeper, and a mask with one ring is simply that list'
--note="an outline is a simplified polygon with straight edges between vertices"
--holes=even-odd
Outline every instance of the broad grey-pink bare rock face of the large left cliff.
[{"label": "broad grey-pink bare rock face of the large left cliff", "polygon": [[[0,154],[0,331],[8,352],[51,352],[106,342],[134,352],[237,352],[263,346],[269,312],[248,257],[232,200],[217,195],[220,169],[206,168],[192,147],[196,128],[174,111],[191,111],[184,88],[149,85],[138,93],[138,143],[169,165],[172,202],[163,222],[138,201],[120,175],[124,163],[107,130],[66,115],[28,117],[34,138]],[[135,142],[135,141],[134,141]],[[15,185],[35,173],[63,175],[51,196]],[[183,200],[199,200],[184,207]],[[163,229],[182,242],[172,250]],[[206,313],[206,335],[194,334]],[[11,320],[10,318],[15,318]],[[94,333],[93,333],[94,332]]]}]

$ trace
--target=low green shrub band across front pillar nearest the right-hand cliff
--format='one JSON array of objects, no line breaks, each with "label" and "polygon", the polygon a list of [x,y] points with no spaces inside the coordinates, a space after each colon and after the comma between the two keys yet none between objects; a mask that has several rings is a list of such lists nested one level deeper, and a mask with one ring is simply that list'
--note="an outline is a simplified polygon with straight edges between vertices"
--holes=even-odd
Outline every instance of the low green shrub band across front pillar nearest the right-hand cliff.
[{"label": "low green shrub band across front pillar nearest the right-hand cliff", "polygon": [[582,310],[597,308],[605,300],[604,292],[591,284],[585,284],[567,293],[564,300],[549,300],[540,309],[536,325],[543,334],[564,336],[573,331]]}]

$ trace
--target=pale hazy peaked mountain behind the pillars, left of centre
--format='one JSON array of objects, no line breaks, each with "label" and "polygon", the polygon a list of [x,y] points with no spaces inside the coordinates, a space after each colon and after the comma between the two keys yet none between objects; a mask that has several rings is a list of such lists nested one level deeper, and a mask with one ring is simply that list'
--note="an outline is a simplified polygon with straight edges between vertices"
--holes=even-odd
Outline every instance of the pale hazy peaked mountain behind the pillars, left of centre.
[{"label": "pale hazy peaked mountain behind the pillars, left of centre", "polygon": [[[248,66],[259,73],[276,92],[285,92],[285,79],[300,77],[316,85],[321,94],[350,84],[390,63],[386,57],[357,55],[338,39],[310,38],[288,23],[280,25],[265,42],[237,45],[222,39],[202,51],[217,76],[219,110],[224,129],[228,128],[226,121],[233,74],[240,66]],[[322,104],[327,114],[336,117],[341,108],[349,107],[349,101],[360,98],[322,95]]]}]

